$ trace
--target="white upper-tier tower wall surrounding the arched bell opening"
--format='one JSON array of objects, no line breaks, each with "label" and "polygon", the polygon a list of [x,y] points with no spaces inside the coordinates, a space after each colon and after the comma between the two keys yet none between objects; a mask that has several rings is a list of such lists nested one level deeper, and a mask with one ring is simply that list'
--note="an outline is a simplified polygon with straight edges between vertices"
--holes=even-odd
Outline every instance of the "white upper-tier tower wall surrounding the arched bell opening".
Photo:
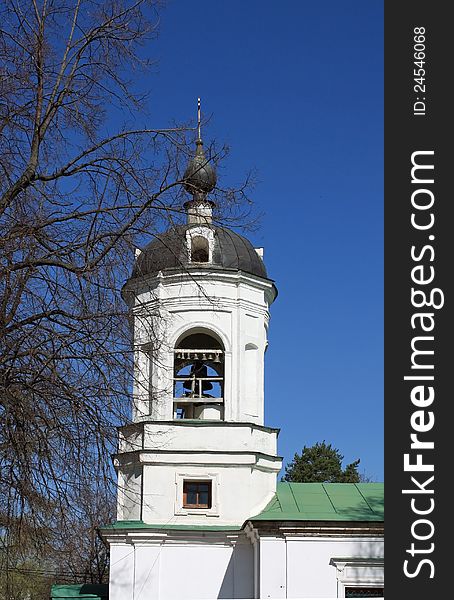
[{"label": "white upper-tier tower wall surrounding the arched bell opening", "polygon": [[264,353],[273,297],[270,281],[241,272],[158,274],[137,289],[133,418],[173,419],[173,350],[185,332],[203,329],[213,332],[225,350],[225,420],[263,424]]}]

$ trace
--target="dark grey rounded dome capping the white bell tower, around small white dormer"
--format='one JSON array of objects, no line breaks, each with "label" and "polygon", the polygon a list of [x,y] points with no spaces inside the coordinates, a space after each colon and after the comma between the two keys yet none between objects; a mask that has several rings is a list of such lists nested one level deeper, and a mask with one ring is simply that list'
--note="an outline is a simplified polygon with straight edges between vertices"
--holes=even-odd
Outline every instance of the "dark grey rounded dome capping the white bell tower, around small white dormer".
[{"label": "dark grey rounded dome capping the white bell tower, around small white dormer", "polygon": [[132,278],[152,275],[164,269],[181,269],[192,266],[204,269],[236,269],[267,278],[263,260],[249,240],[223,227],[212,227],[214,231],[212,261],[210,263],[189,262],[186,231],[192,227],[199,226],[179,225],[156,236],[137,257]]}]

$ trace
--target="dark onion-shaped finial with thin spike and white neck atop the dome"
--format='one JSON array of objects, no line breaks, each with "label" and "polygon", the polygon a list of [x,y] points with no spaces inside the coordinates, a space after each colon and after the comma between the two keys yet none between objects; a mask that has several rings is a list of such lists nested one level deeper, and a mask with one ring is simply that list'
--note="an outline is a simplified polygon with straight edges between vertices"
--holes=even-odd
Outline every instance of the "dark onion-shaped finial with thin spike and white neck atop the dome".
[{"label": "dark onion-shaped finial with thin spike and white neck atop the dome", "polygon": [[207,200],[207,194],[216,185],[216,171],[209,163],[203,151],[201,134],[200,98],[197,98],[197,140],[194,157],[189,161],[184,172],[184,189],[192,195],[192,200],[185,202],[189,223],[211,223],[214,202]]}]

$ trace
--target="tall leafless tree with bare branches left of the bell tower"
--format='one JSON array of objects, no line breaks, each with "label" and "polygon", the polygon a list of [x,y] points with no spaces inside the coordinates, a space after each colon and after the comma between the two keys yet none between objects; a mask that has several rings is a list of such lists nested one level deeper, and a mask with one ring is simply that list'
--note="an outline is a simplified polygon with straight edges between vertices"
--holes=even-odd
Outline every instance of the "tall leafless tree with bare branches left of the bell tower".
[{"label": "tall leafless tree with bare branches left of the bell tower", "polygon": [[[155,8],[146,0],[5,0],[0,9],[7,567],[21,536],[27,555],[49,556],[87,517],[82,499],[108,495],[108,457],[131,391],[119,290],[135,246],[180,218],[180,167],[193,135],[135,127],[144,103],[136,75],[148,64]],[[235,205],[244,194],[226,197]]]}]

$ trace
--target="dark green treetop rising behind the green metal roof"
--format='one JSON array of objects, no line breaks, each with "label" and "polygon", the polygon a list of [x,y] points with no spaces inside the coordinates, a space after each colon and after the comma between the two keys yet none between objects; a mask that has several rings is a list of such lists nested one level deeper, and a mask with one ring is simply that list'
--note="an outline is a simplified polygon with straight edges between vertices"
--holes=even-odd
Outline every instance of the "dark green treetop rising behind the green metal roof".
[{"label": "dark green treetop rising behind the green metal roof", "polygon": [[296,483],[358,483],[359,459],[342,469],[342,454],[325,441],[304,446],[285,467],[284,481]]}]

